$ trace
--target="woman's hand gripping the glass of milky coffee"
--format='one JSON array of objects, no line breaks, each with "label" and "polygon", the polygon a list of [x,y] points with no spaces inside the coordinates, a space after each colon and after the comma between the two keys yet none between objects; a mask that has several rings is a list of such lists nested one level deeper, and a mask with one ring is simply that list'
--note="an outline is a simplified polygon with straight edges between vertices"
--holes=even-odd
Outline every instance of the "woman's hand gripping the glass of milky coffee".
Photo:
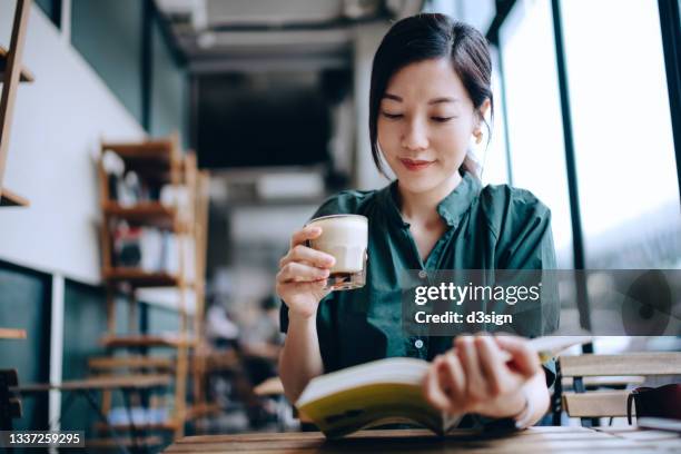
[{"label": "woman's hand gripping the glass of milky coffee", "polygon": [[322,228],[306,226],[290,238],[288,253],[279,260],[277,295],[288,306],[289,317],[309,318],[317,313],[322,298],[329,294],[326,279],[335,264],[334,256],[306,246],[322,235]]}]

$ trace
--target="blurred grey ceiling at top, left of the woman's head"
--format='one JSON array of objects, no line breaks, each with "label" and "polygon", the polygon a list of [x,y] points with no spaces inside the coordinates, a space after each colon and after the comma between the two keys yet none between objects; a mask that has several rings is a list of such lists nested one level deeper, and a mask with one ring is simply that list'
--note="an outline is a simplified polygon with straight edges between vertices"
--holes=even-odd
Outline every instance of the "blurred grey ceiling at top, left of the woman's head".
[{"label": "blurred grey ceiling at top, left of the woman's head", "polygon": [[193,72],[351,65],[353,28],[425,0],[156,0]]}]

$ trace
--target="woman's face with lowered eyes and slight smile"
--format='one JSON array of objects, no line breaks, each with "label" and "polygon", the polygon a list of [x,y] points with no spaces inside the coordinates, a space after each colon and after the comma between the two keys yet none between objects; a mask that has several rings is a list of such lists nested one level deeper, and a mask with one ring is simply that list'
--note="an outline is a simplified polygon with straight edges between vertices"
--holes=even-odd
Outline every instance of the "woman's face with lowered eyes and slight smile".
[{"label": "woman's face with lowered eyes and slight smile", "polygon": [[457,182],[478,120],[448,59],[408,65],[388,81],[378,145],[402,189],[426,193]]}]

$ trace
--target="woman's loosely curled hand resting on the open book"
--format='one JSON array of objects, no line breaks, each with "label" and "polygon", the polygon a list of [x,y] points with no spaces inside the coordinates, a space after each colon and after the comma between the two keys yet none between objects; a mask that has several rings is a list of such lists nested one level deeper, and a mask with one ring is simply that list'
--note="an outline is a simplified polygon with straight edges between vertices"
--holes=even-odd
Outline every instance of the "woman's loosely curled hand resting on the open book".
[{"label": "woman's loosely curled hand resting on the open book", "polygon": [[458,336],[423,382],[426,399],[448,414],[516,416],[527,405],[523,386],[541,371],[537,354],[516,336]]}]

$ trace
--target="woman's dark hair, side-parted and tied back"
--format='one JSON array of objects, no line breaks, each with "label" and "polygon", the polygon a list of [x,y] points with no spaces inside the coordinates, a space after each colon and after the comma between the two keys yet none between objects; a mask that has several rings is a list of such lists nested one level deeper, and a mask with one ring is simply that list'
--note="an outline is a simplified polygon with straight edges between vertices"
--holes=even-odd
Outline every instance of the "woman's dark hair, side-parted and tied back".
[{"label": "woman's dark hair, side-parted and tied back", "polygon": [[[492,59],[487,40],[475,28],[454,21],[445,14],[421,13],[396,22],[383,37],[372,66],[369,91],[369,138],[372,157],[376,168],[385,175],[378,150],[378,110],[391,77],[407,65],[448,58],[452,68],[461,78],[476,115],[485,99],[490,99],[491,117],[494,118],[492,98]],[[482,116],[487,132],[490,125]],[[466,155],[462,170],[477,177],[477,164]]]}]

